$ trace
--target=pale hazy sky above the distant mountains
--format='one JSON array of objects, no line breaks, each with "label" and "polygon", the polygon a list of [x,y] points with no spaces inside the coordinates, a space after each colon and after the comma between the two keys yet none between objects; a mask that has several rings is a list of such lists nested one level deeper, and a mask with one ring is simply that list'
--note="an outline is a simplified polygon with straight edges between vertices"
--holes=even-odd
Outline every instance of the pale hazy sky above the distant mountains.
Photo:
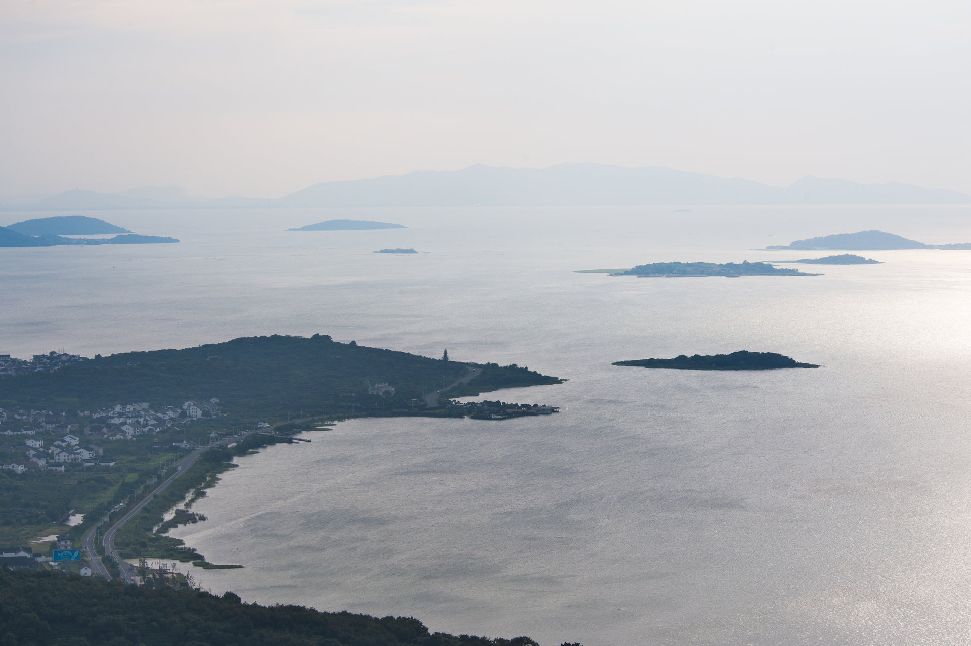
[{"label": "pale hazy sky above the distant mountains", "polygon": [[475,163],[971,192],[967,0],[2,0],[0,193]]}]

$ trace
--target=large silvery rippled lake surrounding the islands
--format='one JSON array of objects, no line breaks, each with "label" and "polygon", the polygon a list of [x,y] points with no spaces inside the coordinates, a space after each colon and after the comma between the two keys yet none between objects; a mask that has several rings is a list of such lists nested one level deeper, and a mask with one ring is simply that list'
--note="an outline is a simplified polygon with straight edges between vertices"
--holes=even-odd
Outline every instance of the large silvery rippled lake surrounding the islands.
[{"label": "large silvery rippled lake surrounding the islands", "polygon": [[[971,208],[673,209],[89,213],[183,242],[0,249],[0,352],[321,333],[569,379],[488,396],[552,416],[358,420],[240,459],[177,532],[246,566],[195,568],[214,592],[542,646],[967,643],[971,251],[573,272],[863,229],[971,242]],[[409,228],[285,231],[340,217]],[[823,368],[611,366],[738,349]]]}]

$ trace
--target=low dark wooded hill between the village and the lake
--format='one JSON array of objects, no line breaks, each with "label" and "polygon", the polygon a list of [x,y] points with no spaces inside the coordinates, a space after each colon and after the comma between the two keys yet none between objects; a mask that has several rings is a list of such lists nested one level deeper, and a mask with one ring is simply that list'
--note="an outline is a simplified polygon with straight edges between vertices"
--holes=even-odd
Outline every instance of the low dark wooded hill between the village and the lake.
[{"label": "low dark wooded hill between the village and the lake", "polygon": [[[488,365],[479,392],[558,383],[518,366]],[[466,364],[326,335],[248,337],[182,350],[124,352],[57,371],[0,379],[0,406],[95,409],[127,402],[181,404],[219,399],[223,423],[248,424],[276,415],[366,414],[423,405],[425,394],[468,374]],[[485,373],[487,372],[487,374]],[[369,384],[394,392],[369,394]]]}]

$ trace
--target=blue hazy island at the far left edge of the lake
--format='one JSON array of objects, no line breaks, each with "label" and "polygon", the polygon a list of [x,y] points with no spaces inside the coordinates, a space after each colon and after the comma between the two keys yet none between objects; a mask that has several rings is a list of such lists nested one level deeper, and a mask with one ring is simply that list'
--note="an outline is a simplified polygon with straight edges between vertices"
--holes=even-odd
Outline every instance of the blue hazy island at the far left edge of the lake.
[{"label": "blue hazy island at the far left edge of the lake", "polygon": [[[92,234],[122,234],[114,238],[63,238]],[[179,242],[163,236],[142,236],[86,215],[39,217],[0,227],[0,246],[54,246],[57,244],[153,244]]]}]

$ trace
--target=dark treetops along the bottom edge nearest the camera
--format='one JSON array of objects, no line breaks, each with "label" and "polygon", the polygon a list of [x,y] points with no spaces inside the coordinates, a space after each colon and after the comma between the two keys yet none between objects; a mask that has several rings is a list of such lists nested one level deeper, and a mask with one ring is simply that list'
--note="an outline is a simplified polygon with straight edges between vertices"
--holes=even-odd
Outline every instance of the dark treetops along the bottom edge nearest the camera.
[{"label": "dark treetops along the bottom edge nearest the camera", "polygon": [[57,572],[0,568],[4,646],[537,646],[529,637],[431,633],[417,619],[242,603]]}]

